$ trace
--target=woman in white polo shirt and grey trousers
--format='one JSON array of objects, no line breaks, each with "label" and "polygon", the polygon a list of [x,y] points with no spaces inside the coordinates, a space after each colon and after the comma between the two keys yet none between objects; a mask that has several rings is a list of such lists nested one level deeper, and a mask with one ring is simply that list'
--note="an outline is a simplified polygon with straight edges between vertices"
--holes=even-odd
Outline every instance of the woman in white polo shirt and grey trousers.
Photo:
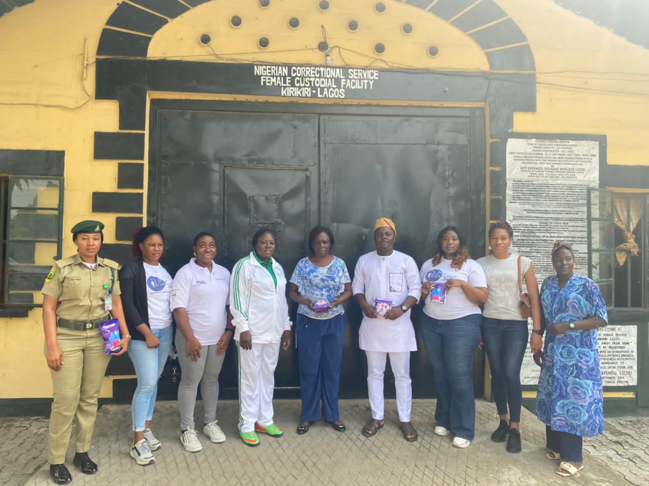
[{"label": "woman in white polo shirt and grey trousers", "polygon": [[202,450],[194,428],[196,392],[201,383],[203,433],[210,441],[225,441],[217,425],[219,374],[234,328],[228,308],[230,272],[214,262],[216,238],[210,233],[194,237],[194,258],[173,280],[171,310],[178,326],[176,350],[182,375],[178,385],[180,442],[188,452]]}]

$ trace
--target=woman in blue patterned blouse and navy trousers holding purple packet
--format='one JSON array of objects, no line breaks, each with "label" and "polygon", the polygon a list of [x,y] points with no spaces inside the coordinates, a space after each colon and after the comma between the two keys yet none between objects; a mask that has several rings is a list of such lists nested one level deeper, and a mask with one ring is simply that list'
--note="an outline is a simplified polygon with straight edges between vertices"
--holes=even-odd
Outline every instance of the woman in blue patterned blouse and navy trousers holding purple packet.
[{"label": "woman in blue patterned blouse and navy trousers holding purple packet", "polygon": [[335,430],[344,432],[345,424],[338,416],[345,337],[345,309],[341,304],[352,296],[352,284],[345,262],[330,253],[334,249],[334,235],[328,227],[316,226],[311,230],[309,249],[311,255],[297,263],[288,285],[289,297],[299,304],[295,335],[302,422],[297,433],[307,433],[323,415]]}]

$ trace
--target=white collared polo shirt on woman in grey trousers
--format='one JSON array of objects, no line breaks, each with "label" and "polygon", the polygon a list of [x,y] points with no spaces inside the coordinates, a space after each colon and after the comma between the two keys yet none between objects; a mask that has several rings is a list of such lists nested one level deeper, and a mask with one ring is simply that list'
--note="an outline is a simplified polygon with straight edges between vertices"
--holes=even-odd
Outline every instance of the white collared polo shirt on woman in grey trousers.
[{"label": "white collared polo shirt on woman in grey trousers", "polygon": [[212,272],[195,259],[180,268],[173,279],[169,308],[187,309],[191,331],[202,346],[219,342],[228,322],[225,306],[230,296],[230,272],[212,262]]}]

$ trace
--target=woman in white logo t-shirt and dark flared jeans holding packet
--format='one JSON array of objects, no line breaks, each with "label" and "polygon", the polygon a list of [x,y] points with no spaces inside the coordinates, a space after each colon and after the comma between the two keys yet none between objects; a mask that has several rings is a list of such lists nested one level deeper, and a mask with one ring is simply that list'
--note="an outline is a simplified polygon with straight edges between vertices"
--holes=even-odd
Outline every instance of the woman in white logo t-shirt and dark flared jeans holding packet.
[{"label": "woman in white logo t-shirt and dark flared jeans holding packet", "polygon": [[480,305],[487,301],[485,274],[469,257],[459,229],[447,226],[439,232],[435,256],[422,264],[419,277],[424,301],[421,335],[437,391],[434,433],[452,433],[453,445],[466,448],[476,425],[471,366],[480,344]]}]

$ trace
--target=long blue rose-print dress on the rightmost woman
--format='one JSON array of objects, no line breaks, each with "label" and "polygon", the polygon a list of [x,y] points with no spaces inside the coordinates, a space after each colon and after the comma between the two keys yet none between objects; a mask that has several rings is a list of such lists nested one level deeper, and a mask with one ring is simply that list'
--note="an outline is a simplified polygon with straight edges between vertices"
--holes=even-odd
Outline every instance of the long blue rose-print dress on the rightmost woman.
[{"label": "long blue rose-print dress on the rightmost woman", "polygon": [[574,274],[559,290],[557,276],[552,275],[541,285],[541,306],[548,329],[536,398],[537,416],[559,432],[582,437],[604,433],[597,329],[574,329],[559,336],[549,329],[550,324],[580,321],[595,314],[607,321],[602,293],[591,279]]}]

